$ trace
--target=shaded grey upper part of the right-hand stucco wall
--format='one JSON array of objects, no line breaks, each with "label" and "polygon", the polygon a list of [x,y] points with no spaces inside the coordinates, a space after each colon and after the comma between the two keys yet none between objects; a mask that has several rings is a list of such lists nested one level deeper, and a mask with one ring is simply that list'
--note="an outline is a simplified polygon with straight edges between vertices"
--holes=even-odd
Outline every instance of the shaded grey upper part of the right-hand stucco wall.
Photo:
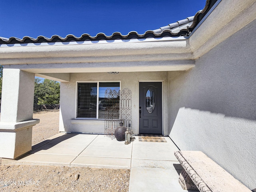
[{"label": "shaded grey upper part of the right-hand stucco wall", "polygon": [[256,20],[198,58],[188,71],[168,72],[173,126],[182,107],[256,120]]}]

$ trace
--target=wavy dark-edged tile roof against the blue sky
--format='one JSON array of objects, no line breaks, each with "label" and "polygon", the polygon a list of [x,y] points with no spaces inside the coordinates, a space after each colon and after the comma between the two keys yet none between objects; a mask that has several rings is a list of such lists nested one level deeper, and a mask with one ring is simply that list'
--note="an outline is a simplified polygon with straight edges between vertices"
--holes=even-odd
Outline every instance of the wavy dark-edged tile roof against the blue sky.
[{"label": "wavy dark-edged tile roof against the blue sky", "polygon": [[66,37],[61,37],[54,35],[51,38],[45,36],[38,36],[37,38],[32,38],[25,36],[22,39],[16,37],[4,38],[0,37],[0,44],[26,44],[26,43],[42,43],[42,42],[84,42],[84,41],[98,41],[98,40],[116,40],[116,39],[145,39],[148,37],[161,38],[165,36],[177,37],[188,35],[202,18],[207,14],[207,12],[212,8],[217,0],[206,0],[206,5],[203,10],[198,11],[195,16],[190,16],[186,19],[179,20],[175,23],[171,23],[167,26],[160,27],[156,30],[148,30],[144,34],[138,34],[136,31],[131,31],[127,35],[122,35],[120,32],[114,32],[111,36],[106,36],[104,33],[98,33],[96,36],[90,36],[90,34],[82,34],[80,37],[76,37],[72,34]]}]

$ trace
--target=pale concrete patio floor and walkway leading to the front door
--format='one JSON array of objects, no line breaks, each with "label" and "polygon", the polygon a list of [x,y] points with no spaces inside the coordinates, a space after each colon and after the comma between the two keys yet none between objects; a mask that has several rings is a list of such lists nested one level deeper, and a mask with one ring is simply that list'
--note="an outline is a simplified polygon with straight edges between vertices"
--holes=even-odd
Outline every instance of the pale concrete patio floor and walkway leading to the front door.
[{"label": "pale concrete patio floor and walkway leading to the front door", "polygon": [[174,156],[178,148],[167,142],[139,142],[129,145],[98,134],[59,133],[32,146],[18,160],[2,164],[88,166],[130,169],[129,192],[186,192],[178,182],[182,170]]}]

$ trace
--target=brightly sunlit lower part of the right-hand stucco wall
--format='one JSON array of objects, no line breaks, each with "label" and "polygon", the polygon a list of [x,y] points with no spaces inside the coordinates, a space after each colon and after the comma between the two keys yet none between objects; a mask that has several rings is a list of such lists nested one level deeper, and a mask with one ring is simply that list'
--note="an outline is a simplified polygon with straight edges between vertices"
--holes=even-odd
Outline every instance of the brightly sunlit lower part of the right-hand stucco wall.
[{"label": "brightly sunlit lower part of the right-hand stucco wall", "polygon": [[181,150],[202,151],[248,188],[255,188],[256,120],[182,107],[170,138]]}]

